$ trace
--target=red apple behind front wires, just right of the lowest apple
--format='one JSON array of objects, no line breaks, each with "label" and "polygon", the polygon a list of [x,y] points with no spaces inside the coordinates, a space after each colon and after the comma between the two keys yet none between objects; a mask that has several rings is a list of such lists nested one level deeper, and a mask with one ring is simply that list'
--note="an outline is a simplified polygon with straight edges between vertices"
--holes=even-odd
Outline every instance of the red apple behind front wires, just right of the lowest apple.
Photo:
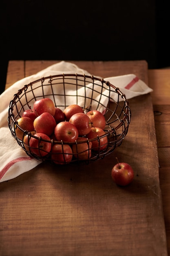
[{"label": "red apple behind front wires, just right of the lowest apple", "polygon": [[85,137],[78,137],[77,143],[72,146],[74,157],[79,160],[88,160],[91,157],[91,147],[91,141],[88,142]]}]

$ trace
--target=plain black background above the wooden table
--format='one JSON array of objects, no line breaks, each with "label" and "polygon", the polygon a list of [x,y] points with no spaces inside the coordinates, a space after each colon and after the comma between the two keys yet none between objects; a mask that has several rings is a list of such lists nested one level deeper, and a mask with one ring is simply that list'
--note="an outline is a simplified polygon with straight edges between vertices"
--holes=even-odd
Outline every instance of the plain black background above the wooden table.
[{"label": "plain black background above the wooden table", "polygon": [[2,0],[0,93],[9,60],[145,59],[150,69],[170,66],[169,6],[165,0]]}]

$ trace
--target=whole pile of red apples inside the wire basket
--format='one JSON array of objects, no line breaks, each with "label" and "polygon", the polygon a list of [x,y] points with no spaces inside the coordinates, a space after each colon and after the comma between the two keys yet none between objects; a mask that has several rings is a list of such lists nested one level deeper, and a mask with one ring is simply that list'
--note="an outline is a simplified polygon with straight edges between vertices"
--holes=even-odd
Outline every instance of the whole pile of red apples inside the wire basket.
[{"label": "whole pile of red apples inside the wire basket", "polygon": [[24,148],[35,157],[50,153],[55,164],[69,163],[73,157],[87,160],[91,150],[99,152],[108,146],[106,120],[98,110],[85,113],[73,104],[62,111],[51,99],[44,98],[36,100],[33,108],[25,110],[17,121],[22,130],[28,131],[14,126]]}]

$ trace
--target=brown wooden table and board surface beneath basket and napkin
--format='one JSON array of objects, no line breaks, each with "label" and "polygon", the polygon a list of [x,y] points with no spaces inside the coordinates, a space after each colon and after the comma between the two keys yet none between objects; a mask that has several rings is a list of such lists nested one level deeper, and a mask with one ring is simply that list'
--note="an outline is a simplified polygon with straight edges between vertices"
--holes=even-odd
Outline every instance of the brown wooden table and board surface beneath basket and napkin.
[{"label": "brown wooden table and board surface beneath basket and napkin", "polygon": [[[56,62],[10,61],[6,89]],[[0,184],[0,255],[170,255],[170,70],[148,71],[145,61],[74,63],[102,77],[134,73],[154,92],[129,100],[128,135],[103,160],[64,170],[42,163]],[[134,168],[130,186],[111,180],[116,156]]]}]

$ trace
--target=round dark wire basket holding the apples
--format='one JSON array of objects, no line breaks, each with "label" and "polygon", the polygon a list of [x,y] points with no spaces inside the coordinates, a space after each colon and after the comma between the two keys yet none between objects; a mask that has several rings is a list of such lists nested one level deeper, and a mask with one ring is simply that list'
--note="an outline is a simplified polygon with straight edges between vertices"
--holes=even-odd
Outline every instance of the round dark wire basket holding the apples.
[{"label": "round dark wire basket holding the apples", "polygon": [[[77,104],[82,107],[84,112],[89,110],[99,110],[104,114],[106,119],[105,135],[98,136],[95,139],[86,139],[86,141],[75,141],[75,142],[65,142],[56,141],[51,139],[50,141],[44,140],[51,144],[51,151],[41,154],[41,149],[39,149],[39,155],[32,153],[31,147],[26,147],[24,143],[24,136],[29,135],[29,141],[31,137],[43,140],[41,137],[35,137],[31,132],[27,130],[22,130],[18,125],[18,119],[22,117],[24,110],[33,107],[33,103],[42,98],[50,98],[53,100],[55,106],[64,110],[67,106],[71,104]],[[62,145],[62,155],[63,161],[59,164],[67,164],[65,160],[64,145],[68,144],[73,147],[73,145],[86,143],[88,148],[87,159],[82,160],[79,157],[79,153],[76,155],[73,153],[72,159],[69,164],[89,164],[91,162],[103,159],[110,153],[112,153],[117,146],[120,146],[124,140],[128,127],[130,124],[130,106],[126,96],[116,88],[114,85],[110,84],[109,81],[104,81],[104,79],[97,78],[94,76],[88,76],[83,74],[57,74],[54,76],[46,76],[33,81],[24,87],[16,94],[14,94],[13,99],[9,104],[9,115],[8,123],[9,129],[11,130],[12,136],[17,140],[18,144],[23,148],[27,155],[36,158],[40,161],[52,161],[52,147],[54,144]],[[22,130],[23,139],[19,139],[16,136],[15,128]],[[107,137],[107,145],[104,150],[101,150],[100,141],[101,137]],[[93,150],[89,145],[91,141],[97,141],[98,148]],[[53,161],[52,161],[53,162]]]}]

